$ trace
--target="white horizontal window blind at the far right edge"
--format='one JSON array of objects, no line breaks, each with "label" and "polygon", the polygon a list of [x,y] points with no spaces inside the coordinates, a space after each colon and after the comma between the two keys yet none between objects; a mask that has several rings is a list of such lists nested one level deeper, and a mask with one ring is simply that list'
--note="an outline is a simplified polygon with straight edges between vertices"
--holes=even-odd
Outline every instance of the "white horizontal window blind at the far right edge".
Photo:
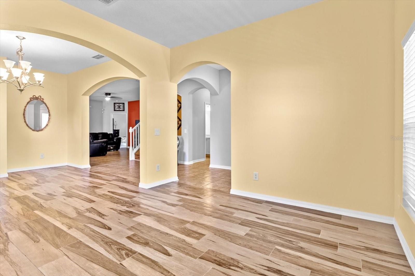
[{"label": "white horizontal window blind at the far right edge", "polygon": [[[413,30],[411,30],[413,31]],[[415,216],[415,32],[403,47],[403,205]]]}]

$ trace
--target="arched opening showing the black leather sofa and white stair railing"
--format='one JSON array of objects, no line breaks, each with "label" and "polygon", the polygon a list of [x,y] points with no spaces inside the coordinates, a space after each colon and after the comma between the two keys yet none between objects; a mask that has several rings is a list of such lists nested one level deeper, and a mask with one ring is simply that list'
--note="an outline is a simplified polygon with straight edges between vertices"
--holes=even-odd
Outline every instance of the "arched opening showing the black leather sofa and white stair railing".
[{"label": "arched opening showing the black leather sofa and white stair railing", "polygon": [[139,80],[114,77],[103,83],[92,94],[86,93],[90,94],[89,164],[92,170],[117,168],[139,182]]}]

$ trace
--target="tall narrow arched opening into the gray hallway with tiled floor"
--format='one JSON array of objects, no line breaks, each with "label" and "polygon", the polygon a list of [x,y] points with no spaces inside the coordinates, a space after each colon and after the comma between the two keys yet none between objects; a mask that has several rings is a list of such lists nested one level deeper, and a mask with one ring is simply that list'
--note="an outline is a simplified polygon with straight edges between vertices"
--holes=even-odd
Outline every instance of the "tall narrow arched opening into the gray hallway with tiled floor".
[{"label": "tall narrow arched opening into the gray hallway with tiled floor", "polygon": [[[199,65],[199,64],[203,65]],[[194,65],[198,65],[194,67]],[[229,180],[213,183],[211,186],[224,188],[226,182],[230,188],[231,137],[230,137],[230,78],[227,68],[211,62],[197,62],[192,70],[184,74],[178,82],[178,95],[182,102],[182,130],[178,132],[181,146],[178,150],[178,178],[185,178],[185,170],[197,170],[205,173],[222,173]],[[211,120],[208,120],[211,119]],[[208,127],[210,126],[210,127]],[[193,165],[195,164],[195,165]],[[196,165],[197,164],[197,165]],[[229,174],[229,175],[228,175]],[[205,178],[214,182],[216,178]],[[186,181],[186,180],[184,180]],[[201,181],[204,181],[203,178]]]}]

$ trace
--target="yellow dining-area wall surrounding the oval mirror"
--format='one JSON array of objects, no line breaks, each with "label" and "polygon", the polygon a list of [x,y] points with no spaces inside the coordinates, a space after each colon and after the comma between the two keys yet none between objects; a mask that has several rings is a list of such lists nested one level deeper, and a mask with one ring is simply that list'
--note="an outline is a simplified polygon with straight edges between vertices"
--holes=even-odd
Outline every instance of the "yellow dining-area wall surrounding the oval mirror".
[{"label": "yellow dining-area wall surrounding the oval mirror", "polygon": [[[7,168],[25,168],[66,163],[67,161],[67,90],[66,75],[32,68],[45,74],[44,88],[30,87],[20,94],[7,84]],[[33,76],[32,76],[33,78]],[[1,84],[5,86],[5,84]],[[24,123],[23,109],[33,95],[42,96],[49,107],[50,122],[35,132]],[[40,154],[44,158],[40,158]]]}]

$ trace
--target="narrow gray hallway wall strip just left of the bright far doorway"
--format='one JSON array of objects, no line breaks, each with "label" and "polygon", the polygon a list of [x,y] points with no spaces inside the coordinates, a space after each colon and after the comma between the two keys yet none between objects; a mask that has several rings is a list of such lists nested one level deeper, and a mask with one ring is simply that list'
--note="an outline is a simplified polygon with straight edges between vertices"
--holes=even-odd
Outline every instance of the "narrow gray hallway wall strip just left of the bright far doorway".
[{"label": "narrow gray hallway wall strip just left of the bright far doorway", "polygon": [[193,161],[205,159],[205,102],[209,101],[210,93],[205,88],[193,94]]}]

